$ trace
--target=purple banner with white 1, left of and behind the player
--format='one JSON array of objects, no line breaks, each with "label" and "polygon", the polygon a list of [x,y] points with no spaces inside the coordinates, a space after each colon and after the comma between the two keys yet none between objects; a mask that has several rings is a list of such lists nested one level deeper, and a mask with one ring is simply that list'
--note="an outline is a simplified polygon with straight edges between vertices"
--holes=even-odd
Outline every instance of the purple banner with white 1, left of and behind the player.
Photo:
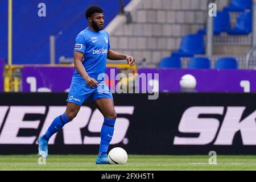
[{"label": "purple banner with white 1, left of and behind the player", "polygon": [[[118,73],[118,68],[112,69]],[[24,67],[23,92],[68,92],[74,71],[73,67]],[[110,68],[106,68],[106,74],[106,84],[115,86],[115,80],[110,80]]]}]

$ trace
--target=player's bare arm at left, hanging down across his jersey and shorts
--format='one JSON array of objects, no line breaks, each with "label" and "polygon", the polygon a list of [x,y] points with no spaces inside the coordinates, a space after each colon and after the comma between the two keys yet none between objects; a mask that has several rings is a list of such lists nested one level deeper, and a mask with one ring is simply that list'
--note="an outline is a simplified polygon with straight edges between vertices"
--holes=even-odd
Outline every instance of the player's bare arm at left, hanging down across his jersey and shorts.
[{"label": "player's bare arm at left, hanging down across his jersey and shorts", "polygon": [[86,84],[89,85],[90,87],[93,87],[93,86],[97,85],[98,82],[94,78],[89,77],[89,75],[85,71],[84,65],[82,65],[83,57],[84,57],[84,53],[74,51],[74,65],[75,65],[77,72],[79,72],[79,74],[86,81]]}]

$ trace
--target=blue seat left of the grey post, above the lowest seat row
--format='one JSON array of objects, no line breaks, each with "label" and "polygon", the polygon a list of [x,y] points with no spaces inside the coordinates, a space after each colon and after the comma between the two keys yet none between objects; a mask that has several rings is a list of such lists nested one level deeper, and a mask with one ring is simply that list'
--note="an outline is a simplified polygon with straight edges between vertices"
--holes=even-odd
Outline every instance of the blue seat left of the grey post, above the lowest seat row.
[{"label": "blue seat left of the grey post, above the lowest seat row", "polygon": [[193,57],[195,54],[204,53],[204,37],[200,34],[189,34],[181,40],[179,51],[173,52],[172,56]]}]

